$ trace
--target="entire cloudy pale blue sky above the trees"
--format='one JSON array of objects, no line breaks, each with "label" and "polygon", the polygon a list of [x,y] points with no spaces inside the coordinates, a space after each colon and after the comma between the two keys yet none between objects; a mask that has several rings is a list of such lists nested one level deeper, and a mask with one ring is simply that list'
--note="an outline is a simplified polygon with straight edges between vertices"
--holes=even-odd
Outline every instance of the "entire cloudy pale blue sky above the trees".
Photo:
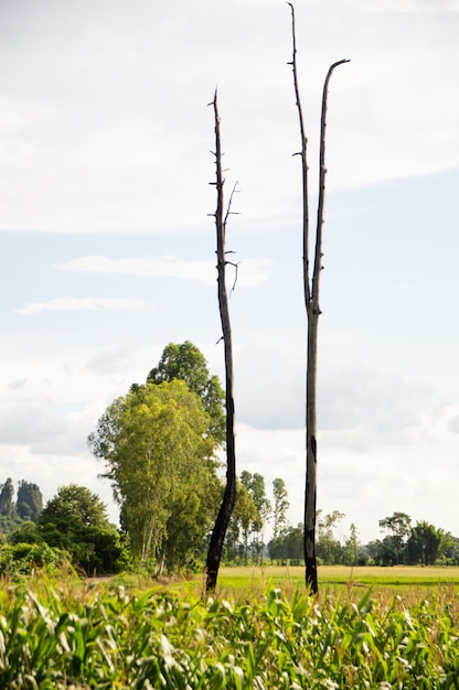
[{"label": "entire cloudy pale blue sky above the trees", "polygon": [[[328,67],[318,507],[363,542],[394,511],[459,537],[459,0],[297,0],[316,214]],[[1,0],[0,483],[88,486],[87,435],[185,339],[224,378],[218,94],[237,470],[303,515],[306,312],[290,9]],[[313,230],[314,224],[312,224]],[[230,277],[231,282],[233,281]]]}]

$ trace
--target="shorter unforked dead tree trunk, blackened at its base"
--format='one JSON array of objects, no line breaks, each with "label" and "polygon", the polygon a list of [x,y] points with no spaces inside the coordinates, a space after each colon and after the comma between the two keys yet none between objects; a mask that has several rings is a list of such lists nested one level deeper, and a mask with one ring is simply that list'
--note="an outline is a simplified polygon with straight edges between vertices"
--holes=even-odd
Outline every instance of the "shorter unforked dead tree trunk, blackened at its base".
[{"label": "shorter unforked dead tree trunk, blackened at its base", "polygon": [[[225,235],[226,222],[231,213],[231,203],[226,213],[224,212],[223,185],[225,180],[222,172],[222,149],[220,139],[220,117],[217,107],[217,95],[215,91],[212,101],[215,116],[215,169],[216,169],[216,211],[215,228],[216,228],[216,256],[217,256],[217,285],[218,285],[218,308],[222,321],[223,342],[225,347],[225,401],[226,401],[226,487],[223,495],[222,505],[218,510],[215,526],[212,532],[211,542],[209,545],[206,561],[206,581],[205,589],[210,592],[216,586],[218,575],[220,561],[222,557],[223,542],[225,540],[226,529],[233,513],[236,500],[236,454],[235,454],[235,433],[234,433],[234,397],[233,397],[233,345],[231,334],[230,310],[226,292],[226,259]],[[233,190],[234,193],[234,190]],[[237,267],[236,267],[237,269]]]}]

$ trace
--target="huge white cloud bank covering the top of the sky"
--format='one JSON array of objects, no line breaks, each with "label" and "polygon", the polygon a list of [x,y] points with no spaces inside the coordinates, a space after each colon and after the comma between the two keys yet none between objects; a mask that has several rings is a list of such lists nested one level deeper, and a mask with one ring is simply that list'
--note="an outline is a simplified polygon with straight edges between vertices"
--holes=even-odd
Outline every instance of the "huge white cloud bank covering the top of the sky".
[{"label": "huge white cloud bank covering the top of the sky", "polygon": [[[259,219],[292,194],[299,197],[290,157],[298,130],[286,67],[289,8],[135,4],[132,11],[79,2],[78,18],[50,0],[40,12],[30,2],[28,12],[6,11],[11,30],[0,57],[11,69],[0,94],[8,105],[0,127],[3,227],[86,234],[202,228],[214,207],[206,104],[216,83],[225,163],[245,194],[241,211]],[[352,58],[331,85],[329,188],[458,164],[458,105],[450,97],[457,30],[448,11],[457,7],[457,0],[298,3],[312,168],[325,69]]]}]

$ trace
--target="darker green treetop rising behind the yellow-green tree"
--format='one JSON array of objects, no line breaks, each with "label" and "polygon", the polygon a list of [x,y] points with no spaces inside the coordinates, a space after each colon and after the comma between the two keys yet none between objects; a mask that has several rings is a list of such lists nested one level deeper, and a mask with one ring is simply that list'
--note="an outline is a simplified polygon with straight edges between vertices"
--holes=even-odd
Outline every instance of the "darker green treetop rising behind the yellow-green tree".
[{"label": "darker green treetop rising behind the yellow-green tree", "polygon": [[225,441],[225,393],[217,376],[209,371],[207,363],[202,352],[185,341],[178,345],[169,343],[162,351],[157,367],[151,369],[147,381],[162,384],[174,378],[185,381],[189,389],[199,396],[210,419],[210,434],[218,445]]}]

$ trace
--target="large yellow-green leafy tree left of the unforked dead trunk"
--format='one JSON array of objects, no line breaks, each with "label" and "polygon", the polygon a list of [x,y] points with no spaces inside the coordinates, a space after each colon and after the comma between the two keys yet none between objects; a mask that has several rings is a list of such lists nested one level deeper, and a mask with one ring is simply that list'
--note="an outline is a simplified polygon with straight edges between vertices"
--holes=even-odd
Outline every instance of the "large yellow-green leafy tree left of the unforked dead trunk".
[{"label": "large yellow-green leafy tree left of the unforked dead trunk", "polygon": [[209,532],[215,513],[207,496],[217,443],[201,398],[177,378],[134,387],[109,406],[88,442],[106,463],[135,556],[173,567]]}]

